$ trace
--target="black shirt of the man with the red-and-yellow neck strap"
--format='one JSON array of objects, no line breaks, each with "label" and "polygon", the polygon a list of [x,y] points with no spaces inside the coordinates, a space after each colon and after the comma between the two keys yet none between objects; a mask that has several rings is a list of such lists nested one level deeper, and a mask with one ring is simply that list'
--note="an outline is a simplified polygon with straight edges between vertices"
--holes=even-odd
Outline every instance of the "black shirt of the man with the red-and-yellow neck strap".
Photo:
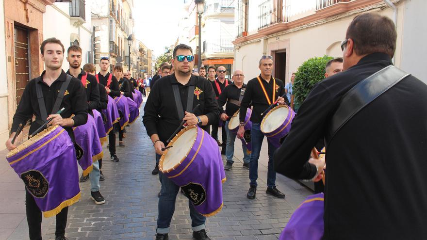
[{"label": "black shirt of the man with the red-and-yellow neck strap", "polygon": [[[273,104],[274,101],[277,100],[279,96],[285,94],[285,86],[280,79],[276,79],[276,86],[273,86],[273,77],[270,78],[270,81],[267,82],[263,80],[261,75],[259,76],[265,91],[267,92],[268,98]],[[276,92],[275,99],[273,98],[273,91]],[[252,102],[252,104],[251,104]],[[285,96],[285,103],[288,104],[287,97]],[[270,105],[268,104],[267,99],[265,98],[263,88],[260,85],[260,82],[257,78],[251,79],[247,82],[245,96],[243,96],[242,103],[240,104],[240,122],[245,122],[245,116],[247,108],[252,105],[252,115],[250,116],[250,120],[252,123],[261,123],[263,120],[261,113],[263,113]]]}]

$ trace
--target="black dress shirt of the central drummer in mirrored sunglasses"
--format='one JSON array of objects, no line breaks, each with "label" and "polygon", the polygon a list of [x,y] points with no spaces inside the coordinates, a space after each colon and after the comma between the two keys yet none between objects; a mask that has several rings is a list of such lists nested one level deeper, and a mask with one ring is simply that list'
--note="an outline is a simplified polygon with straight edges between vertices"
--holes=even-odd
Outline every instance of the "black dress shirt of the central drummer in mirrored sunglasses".
[{"label": "black dress shirt of the central drummer in mirrored sunglasses", "polygon": [[[213,93],[212,85],[208,80],[192,75],[188,83],[182,85],[175,78],[175,74],[165,76],[151,88],[150,95],[144,107],[143,117],[148,136],[157,133],[159,134],[160,140],[164,143],[166,143],[166,140],[178,128],[182,121],[182,119],[178,117],[172,84],[178,84],[182,109],[184,111],[193,111],[187,110],[186,107],[188,87],[194,85],[195,91],[199,89],[202,92],[198,95],[198,99],[197,95],[192,93],[194,94],[193,108],[196,107],[197,104],[200,104],[196,111],[192,113],[196,116],[206,115],[208,117],[208,124],[218,121],[219,118],[219,107],[215,99],[215,94]],[[202,128],[208,130],[209,126],[203,126]]]}]

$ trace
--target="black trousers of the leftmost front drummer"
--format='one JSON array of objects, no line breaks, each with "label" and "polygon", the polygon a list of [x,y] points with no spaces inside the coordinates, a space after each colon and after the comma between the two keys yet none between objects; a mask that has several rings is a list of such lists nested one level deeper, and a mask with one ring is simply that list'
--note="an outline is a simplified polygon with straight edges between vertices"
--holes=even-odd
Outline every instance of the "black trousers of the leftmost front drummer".
[{"label": "black trousers of the leftmost front drummer", "polygon": [[[30,240],[42,240],[42,211],[34,201],[33,195],[25,190],[25,206]],[[68,207],[56,215],[55,237],[65,234]]]}]

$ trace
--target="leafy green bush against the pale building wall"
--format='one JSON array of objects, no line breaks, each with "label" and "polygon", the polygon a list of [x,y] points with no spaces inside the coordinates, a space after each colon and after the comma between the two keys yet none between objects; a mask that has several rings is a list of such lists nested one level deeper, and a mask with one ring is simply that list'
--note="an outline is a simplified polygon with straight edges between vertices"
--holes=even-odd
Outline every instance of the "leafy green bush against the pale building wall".
[{"label": "leafy green bush against the pale building wall", "polygon": [[295,96],[296,105],[300,105],[317,82],[325,79],[325,65],[332,57],[314,57],[305,61],[295,73],[292,92]]}]

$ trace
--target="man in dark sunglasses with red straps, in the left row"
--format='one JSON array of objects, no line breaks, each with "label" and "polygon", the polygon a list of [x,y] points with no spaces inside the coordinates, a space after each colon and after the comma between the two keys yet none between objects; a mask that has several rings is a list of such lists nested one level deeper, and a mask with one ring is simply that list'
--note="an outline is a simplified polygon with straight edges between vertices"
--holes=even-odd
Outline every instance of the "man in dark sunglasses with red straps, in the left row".
[{"label": "man in dark sunglasses with red straps, in the left row", "polygon": [[[120,96],[120,89],[118,87],[118,81],[111,73],[108,72],[108,68],[110,67],[110,59],[107,57],[102,57],[99,61],[99,67],[101,70],[95,77],[98,82],[105,86],[105,90],[107,94],[111,97]],[[111,160],[117,162],[120,159],[115,155],[115,130],[111,130],[108,133],[108,143],[110,144],[109,150],[111,155]]]}]

